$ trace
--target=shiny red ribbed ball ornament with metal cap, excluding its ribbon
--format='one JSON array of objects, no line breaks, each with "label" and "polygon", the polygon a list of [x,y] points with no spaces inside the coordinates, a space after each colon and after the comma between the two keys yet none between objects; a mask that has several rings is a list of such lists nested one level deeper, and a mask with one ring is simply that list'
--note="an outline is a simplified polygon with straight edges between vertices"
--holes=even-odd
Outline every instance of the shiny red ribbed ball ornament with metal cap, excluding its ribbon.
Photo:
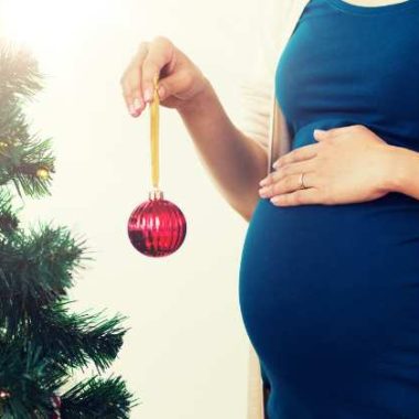
[{"label": "shiny red ribbed ball ornament with metal cap, excluding its ribbon", "polygon": [[138,205],[128,222],[132,246],[146,256],[168,256],[176,251],[186,235],[186,219],[182,211],[153,191],[149,201]]}]

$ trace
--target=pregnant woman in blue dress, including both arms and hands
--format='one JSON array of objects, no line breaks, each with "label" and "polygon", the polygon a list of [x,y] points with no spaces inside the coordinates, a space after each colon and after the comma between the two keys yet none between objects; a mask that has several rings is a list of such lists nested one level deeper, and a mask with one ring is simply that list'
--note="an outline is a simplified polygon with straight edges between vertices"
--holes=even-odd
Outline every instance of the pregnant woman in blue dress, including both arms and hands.
[{"label": "pregnant woman in blue dress, including both arms and hands", "polygon": [[160,75],[161,104],[249,221],[239,301],[267,419],[419,418],[418,35],[419,0],[305,1],[275,73],[291,150],[269,175],[168,39],[122,75],[135,117]]}]

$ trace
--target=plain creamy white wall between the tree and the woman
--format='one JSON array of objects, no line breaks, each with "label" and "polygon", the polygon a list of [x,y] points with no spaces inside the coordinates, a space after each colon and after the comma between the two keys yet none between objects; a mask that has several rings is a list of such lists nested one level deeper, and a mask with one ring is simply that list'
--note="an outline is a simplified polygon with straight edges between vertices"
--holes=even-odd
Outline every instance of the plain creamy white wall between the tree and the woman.
[{"label": "plain creamy white wall between the tree and the woman", "polygon": [[56,174],[52,196],[28,200],[23,215],[54,219],[87,239],[95,260],[72,291],[77,309],[129,318],[111,369],[140,399],[131,418],[244,419],[248,337],[238,268],[247,224],[222,198],[176,111],[161,108],[161,187],[185,213],[187,236],[168,258],[136,253],[126,228],[151,185],[149,114],[128,115],[119,78],[140,41],[165,35],[200,65],[240,123],[237,80],[256,47],[255,4],[1,3],[9,31],[30,39],[49,74],[29,111],[33,127],[54,139]]}]

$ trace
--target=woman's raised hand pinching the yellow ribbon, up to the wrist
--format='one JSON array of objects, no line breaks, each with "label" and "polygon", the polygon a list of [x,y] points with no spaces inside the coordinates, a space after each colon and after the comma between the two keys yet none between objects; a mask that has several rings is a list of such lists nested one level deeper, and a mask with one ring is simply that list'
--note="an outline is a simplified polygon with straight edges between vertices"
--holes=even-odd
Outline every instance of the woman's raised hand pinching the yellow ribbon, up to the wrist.
[{"label": "woman's raised hand pinching the yellow ribbon, up to the wrist", "polygon": [[153,77],[159,75],[159,99],[162,106],[180,109],[207,87],[200,68],[164,36],[141,42],[120,78],[128,111],[141,115],[153,97]]}]

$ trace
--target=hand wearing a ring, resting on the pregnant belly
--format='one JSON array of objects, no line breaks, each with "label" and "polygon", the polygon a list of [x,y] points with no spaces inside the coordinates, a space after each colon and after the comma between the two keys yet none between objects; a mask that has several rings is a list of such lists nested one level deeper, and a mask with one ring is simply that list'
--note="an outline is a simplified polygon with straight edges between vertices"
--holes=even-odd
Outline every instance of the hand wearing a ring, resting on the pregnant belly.
[{"label": "hand wearing a ring, resting on the pregnant belly", "polygon": [[[314,130],[313,144],[280,157],[259,190],[275,205],[372,201],[390,190],[390,146],[363,125]],[[300,189],[304,172],[307,189]]]}]

